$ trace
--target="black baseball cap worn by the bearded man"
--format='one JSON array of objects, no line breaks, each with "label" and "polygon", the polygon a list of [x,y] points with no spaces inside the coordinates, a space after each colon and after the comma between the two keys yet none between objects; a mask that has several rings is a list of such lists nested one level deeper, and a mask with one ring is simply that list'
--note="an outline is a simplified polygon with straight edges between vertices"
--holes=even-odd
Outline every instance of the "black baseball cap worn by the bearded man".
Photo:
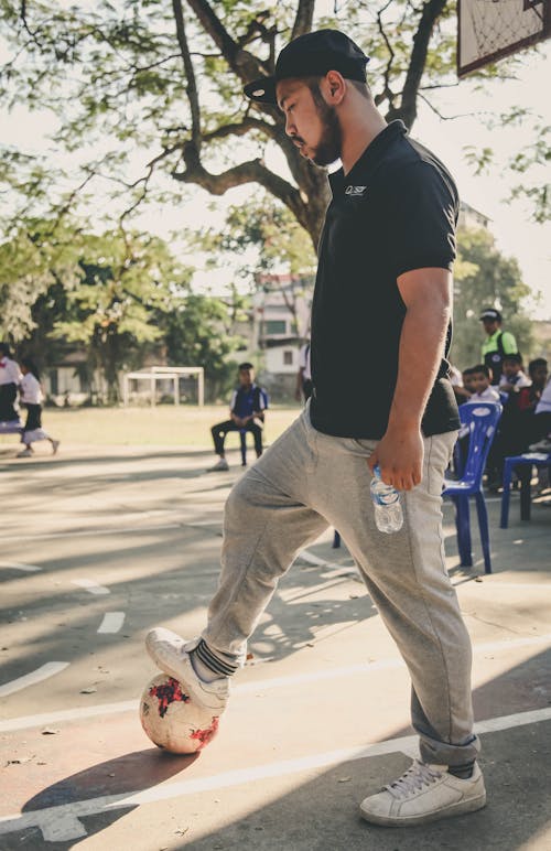
[{"label": "black baseball cap worn by the bearded man", "polygon": [[338,71],[346,79],[366,82],[366,56],[357,44],[338,30],[316,30],[293,39],[278,56],[271,77],[260,77],[245,86],[245,94],[261,104],[277,104],[280,79],[323,76]]}]

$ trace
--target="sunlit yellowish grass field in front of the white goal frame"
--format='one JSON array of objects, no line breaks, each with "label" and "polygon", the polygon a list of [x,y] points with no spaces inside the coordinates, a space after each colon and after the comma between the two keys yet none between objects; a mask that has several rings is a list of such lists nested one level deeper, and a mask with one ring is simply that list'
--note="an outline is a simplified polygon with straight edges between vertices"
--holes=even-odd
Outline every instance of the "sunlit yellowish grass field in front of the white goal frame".
[{"label": "sunlit yellowish grass field in front of the white goal frame", "polygon": [[[298,417],[299,406],[274,407],[267,413],[266,441],[272,443]],[[46,408],[43,427],[67,445],[213,445],[210,427],[228,418],[225,406],[158,406],[155,408]],[[17,443],[17,435],[0,435],[0,445]],[[252,445],[252,438],[249,439]],[[228,438],[228,449],[239,445]]]}]

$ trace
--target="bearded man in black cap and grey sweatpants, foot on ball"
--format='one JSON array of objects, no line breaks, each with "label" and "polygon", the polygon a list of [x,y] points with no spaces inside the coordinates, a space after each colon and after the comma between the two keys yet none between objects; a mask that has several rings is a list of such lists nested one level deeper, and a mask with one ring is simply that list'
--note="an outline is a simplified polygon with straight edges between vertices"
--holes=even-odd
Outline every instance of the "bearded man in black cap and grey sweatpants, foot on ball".
[{"label": "bearded man in black cap and grey sweatpants, foot on ball", "polygon": [[[279,578],[334,526],[411,675],[421,761],[361,804],[367,820],[402,826],[479,809],[486,796],[475,762],[471,645],[441,528],[443,474],[460,424],[444,359],[458,201],[435,157],[376,109],[367,61],[346,35],[322,30],[291,42],[274,77],[245,89],[278,104],[303,157],[343,163],[329,176],[320,241],[314,391],[228,498],[220,583],[201,638],[185,644],[154,629],[147,646],[219,714],[228,676]],[[404,523],[392,535],[375,525],[376,464],[403,492]]]}]

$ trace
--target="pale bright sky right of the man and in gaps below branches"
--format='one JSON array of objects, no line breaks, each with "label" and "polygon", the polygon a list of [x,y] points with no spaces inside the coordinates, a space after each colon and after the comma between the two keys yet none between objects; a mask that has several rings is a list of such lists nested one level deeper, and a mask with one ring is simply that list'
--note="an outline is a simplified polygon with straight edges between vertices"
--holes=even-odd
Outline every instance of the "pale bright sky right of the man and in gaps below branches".
[{"label": "pale bright sky right of the man and in gaps below branches", "polygon": [[[0,50],[1,61],[1,50]],[[457,86],[432,94],[432,103],[444,116],[462,116],[453,120],[442,120],[426,105],[420,104],[419,117],[412,136],[436,153],[454,174],[462,198],[491,219],[491,231],[497,245],[507,256],[519,261],[523,281],[530,287],[533,299],[529,304],[530,314],[537,319],[551,320],[551,223],[538,225],[530,222],[530,207],[522,202],[506,201],[510,188],[521,181],[507,169],[507,160],[529,143],[527,127],[507,130],[487,128],[484,118],[489,111],[505,112],[512,105],[532,108],[551,127],[551,41],[537,50],[529,49],[521,54],[520,67],[516,68],[516,79],[494,80],[485,86],[484,91],[468,78]],[[24,150],[40,152],[48,147],[47,136],[53,132],[56,119],[50,114],[29,114],[19,107],[10,115],[0,112],[2,141],[21,147]],[[488,174],[475,176],[473,166],[467,164],[467,147],[483,149],[491,147],[495,151],[495,164]],[[151,152],[144,152],[144,162]],[[530,179],[537,179],[532,172]],[[544,172],[541,169],[541,179]],[[547,174],[549,181],[549,174]],[[140,218],[140,226],[148,227],[161,236],[169,237],[173,230],[196,225],[197,222],[212,222],[218,226],[223,222],[223,211],[229,204],[242,203],[250,194],[250,188],[233,190],[224,198],[217,200],[218,211],[210,209],[213,198],[196,188],[193,204],[183,204],[181,208],[152,209]],[[201,258],[198,258],[201,266]],[[225,267],[218,271],[197,273],[198,287],[208,282],[216,290],[218,282],[227,280]]]}]

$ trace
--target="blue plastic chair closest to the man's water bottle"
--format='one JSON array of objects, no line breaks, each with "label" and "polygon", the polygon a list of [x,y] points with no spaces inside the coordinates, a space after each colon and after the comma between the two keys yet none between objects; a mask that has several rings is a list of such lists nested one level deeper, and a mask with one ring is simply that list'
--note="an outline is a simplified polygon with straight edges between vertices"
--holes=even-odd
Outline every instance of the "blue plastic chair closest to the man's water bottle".
[{"label": "blue plastic chair closest to the man's water bottle", "polygon": [[468,453],[460,481],[444,480],[445,488],[443,495],[450,496],[455,504],[457,548],[463,568],[471,568],[473,565],[468,498],[471,496],[475,498],[484,553],[484,570],[486,573],[491,573],[491,562],[489,556],[488,511],[484,499],[483,475],[501,410],[503,408],[498,402],[465,402],[465,405],[460,407],[462,423],[460,437],[468,434]]}]

